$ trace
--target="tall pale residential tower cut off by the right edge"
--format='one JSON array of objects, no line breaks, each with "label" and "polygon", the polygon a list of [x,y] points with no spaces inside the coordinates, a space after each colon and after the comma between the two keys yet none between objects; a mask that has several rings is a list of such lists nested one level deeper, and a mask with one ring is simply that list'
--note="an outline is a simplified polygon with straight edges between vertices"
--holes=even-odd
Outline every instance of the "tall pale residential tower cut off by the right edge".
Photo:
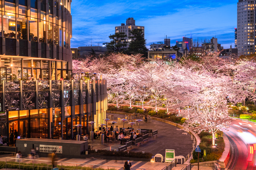
[{"label": "tall pale residential tower cut off by the right edge", "polygon": [[237,49],[238,56],[255,53],[255,1],[238,0]]}]

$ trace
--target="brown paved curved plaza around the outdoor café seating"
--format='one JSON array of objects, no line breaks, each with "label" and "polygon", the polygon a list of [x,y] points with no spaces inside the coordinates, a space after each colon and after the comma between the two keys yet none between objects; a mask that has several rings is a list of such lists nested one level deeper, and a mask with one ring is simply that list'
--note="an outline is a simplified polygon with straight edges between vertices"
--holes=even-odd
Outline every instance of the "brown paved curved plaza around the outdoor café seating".
[{"label": "brown paved curved plaza around the outdoor caf\u00e9 seating", "polygon": [[[119,114],[108,114],[108,115],[114,115],[114,120],[110,121],[116,121],[118,122],[118,117],[125,118],[125,115],[119,115]],[[141,119],[141,118],[138,118]],[[123,123],[115,123],[114,127],[118,125],[118,128],[123,127]],[[108,125],[110,127],[111,125]],[[124,127],[129,127],[129,124],[125,122]],[[138,125],[133,126],[134,130],[138,128]],[[144,152],[150,152],[153,155],[156,154],[162,154],[162,156],[165,156],[165,150],[166,149],[174,149],[176,156],[184,156],[186,158],[186,155],[192,151],[192,144],[193,140],[191,140],[190,134],[182,134],[184,133],[183,130],[177,130],[179,128],[163,123],[160,121],[152,120],[151,122],[144,123],[140,122],[140,129],[153,129],[158,130],[157,137],[149,136],[148,141],[145,140],[141,144],[138,144],[137,146],[132,145],[132,149],[128,148],[128,151],[144,151]],[[94,142],[89,142],[89,145],[93,146],[93,149],[103,149],[110,147],[111,145],[120,144],[120,142],[107,142],[104,145],[100,145],[100,140],[95,140]]]}]

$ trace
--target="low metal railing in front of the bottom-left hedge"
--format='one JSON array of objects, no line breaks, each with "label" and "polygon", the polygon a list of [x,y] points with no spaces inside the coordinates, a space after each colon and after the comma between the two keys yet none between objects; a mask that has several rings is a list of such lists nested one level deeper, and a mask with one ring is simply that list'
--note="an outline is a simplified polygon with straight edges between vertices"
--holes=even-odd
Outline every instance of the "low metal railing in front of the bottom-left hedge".
[{"label": "low metal railing in front of the bottom-left hedge", "polygon": [[[14,159],[14,160],[19,160],[19,162],[17,162],[17,163],[19,163],[19,164],[8,164],[7,163],[7,159]],[[33,170],[34,170],[34,167],[41,167],[41,168],[47,168],[47,170],[48,170],[48,168],[49,168],[49,170],[51,170],[52,169],[52,167],[51,166],[48,166],[48,165],[51,165],[52,164],[52,161],[49,161],[49,160],[37,160],[37,159],[23,159],[23,158],[6,158],[5,159],[5,168],[7,169],[7,165],[19,165],[19,170],[20,170],[20,161],[21,160],[28,160],[28,161],[32,161],[32,165],[28,165],[28,164],[21,164],[22,166],[32,166],[33,167]],[[46,164],[47,164],[47,166],[35,166],[34,165],[34,162],[35,161],[40,161],[40,164],[42,164],[42,163],[44,163],[44,162],[46,162]],[[49,162],[50,162],[50,164],[49,164]],[[56,164],[60,164],[61,163],[61,169],[63,169],[63,163],[64,164],[75,164],[75,166],[74,167],[76,167],[76,170],[81,170],[81,169],[79,169],[80,167],[82,167],[83,165],[88,165],[87,167],[89,167],[89,166],[92,166],[92,170],[93,170],[93,166],[103,166],[103,167],[105,167],[105,168],[107,168],[107,169],[109,169],[109,168],[123,168],[122,166],[108,166],[108,165],[98,165],[98,164],[82,164],[82,163],[73,163],[73,162],[58,162],[58,161],[56,161]],[[78,166],[79,165],[79,166]],[[82,166],[81,166],[82,165]],[[59,165],[60,166],[60,165]],[[66,165],[66,166],[70,166],[70,165]],[[98,167],[97,167],[98,168]],[[74,168],[68,168],[68,167],[64,167],[64,169],[66,169],[66,170],[75,170]],[[130,168],[130,169],[136,169],[136,170],[146,170],[145,168]]]}]

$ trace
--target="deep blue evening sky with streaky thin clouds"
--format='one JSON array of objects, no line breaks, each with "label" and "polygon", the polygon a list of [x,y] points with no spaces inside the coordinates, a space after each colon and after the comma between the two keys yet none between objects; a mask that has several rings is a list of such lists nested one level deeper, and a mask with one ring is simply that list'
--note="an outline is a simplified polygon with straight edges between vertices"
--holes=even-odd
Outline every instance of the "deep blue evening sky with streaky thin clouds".
[{"label": "deep blue evening sky with streaky thin clouds", "polygon": [[71,47],[110,42],[115,26],[133,17],[145,27],[147,47],[163,42],[171,45],[182,37],[204,41],[218,38],[224,48],[234,47],[238,0],[72,0]]}]

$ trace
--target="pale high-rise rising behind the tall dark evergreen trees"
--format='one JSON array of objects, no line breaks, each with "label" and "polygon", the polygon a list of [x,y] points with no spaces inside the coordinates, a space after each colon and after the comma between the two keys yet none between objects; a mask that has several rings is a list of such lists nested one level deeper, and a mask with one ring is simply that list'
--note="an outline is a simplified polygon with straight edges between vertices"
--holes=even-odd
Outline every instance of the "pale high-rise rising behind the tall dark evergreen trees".
[{"label": "pale high-rise rising behind the tall dark evergreen trees", "polygon": [[126,19],[126,24],[121,24],[121,26],[115,27],[115,32],[125,32],[127,36],[126,41],[130,42],[131,38],[129,38],[129,36],[132,36],[130,32],[134,29],[142,29],[144,33],[144,26],[136,26],[134,18],[128,18]]}]

